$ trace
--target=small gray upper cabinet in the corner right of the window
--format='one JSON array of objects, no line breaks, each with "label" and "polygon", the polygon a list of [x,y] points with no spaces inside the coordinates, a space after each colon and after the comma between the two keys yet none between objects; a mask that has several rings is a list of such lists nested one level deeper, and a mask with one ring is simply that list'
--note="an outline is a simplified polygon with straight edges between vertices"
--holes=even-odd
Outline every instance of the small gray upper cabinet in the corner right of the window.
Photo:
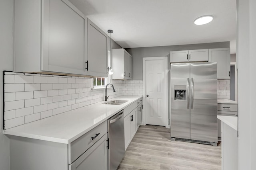
[{"label": "small gray upper cabinet in the corner right of the window", "polygon": [[125,49],[112,49],[112,79],[132,80],[132,55]]}]

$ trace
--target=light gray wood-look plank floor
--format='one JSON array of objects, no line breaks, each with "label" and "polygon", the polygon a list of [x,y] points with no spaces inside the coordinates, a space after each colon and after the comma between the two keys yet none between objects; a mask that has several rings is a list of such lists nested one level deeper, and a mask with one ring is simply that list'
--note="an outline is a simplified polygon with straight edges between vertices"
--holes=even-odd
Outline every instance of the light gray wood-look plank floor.
[{"label": "light gray wood-look plank floor", "polygon": [[221,145],[170,141],[165,127],[140,126],[118,170],[220,170]]}]

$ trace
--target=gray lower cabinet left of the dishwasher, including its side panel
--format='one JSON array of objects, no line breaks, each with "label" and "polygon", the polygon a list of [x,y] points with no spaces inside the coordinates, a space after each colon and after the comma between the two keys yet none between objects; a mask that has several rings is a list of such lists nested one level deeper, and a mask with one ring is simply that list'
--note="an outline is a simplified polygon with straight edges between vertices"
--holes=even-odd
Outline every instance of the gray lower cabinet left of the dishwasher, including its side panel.
[{"label": "gray lower cabinet left of the dishwasher, including its side panel", "polygon": [[108,123],[69,144],[8,135],[10,170],[107,170]]}]

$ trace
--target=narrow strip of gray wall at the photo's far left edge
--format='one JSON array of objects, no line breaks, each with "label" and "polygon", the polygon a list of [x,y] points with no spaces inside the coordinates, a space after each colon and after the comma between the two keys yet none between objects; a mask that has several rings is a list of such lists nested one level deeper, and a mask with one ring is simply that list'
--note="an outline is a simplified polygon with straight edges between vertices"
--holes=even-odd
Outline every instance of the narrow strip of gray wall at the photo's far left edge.
[{"label": "narrow strip of gray wall at the photo's far left edge", "polygon": [[[2,71],[12,71],[12,0],[0,0],[0,80]],[[9,139],[3,134],[3,84],[0,83],[0,170],[9,170]]]}]

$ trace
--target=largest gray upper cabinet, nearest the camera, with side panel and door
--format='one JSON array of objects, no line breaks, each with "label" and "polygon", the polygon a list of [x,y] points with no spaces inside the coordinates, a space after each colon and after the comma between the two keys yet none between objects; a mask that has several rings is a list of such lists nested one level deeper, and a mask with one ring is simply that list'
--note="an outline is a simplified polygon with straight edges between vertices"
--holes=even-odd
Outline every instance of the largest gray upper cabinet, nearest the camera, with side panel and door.
[{"label": "largest gray upper cabinet, nearest the camera, with side panel and door", "polygon": [[15,0],[14,12],[14,71],[87,74],[87,18],[68,0]]}]

